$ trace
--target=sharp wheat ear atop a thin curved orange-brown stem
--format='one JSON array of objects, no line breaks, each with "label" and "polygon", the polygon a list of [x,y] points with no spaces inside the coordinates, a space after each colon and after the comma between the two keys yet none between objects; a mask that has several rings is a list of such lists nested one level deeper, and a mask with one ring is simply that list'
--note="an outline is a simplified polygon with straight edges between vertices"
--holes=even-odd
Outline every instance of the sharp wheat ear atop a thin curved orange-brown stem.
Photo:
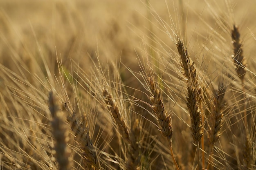
[{"label": "sharp wheat ear atop a thin curved orange-brown stem", "polygon": [[153,77],[148,77],[148,84],[151,92],[151,96],[148,98],[153,104],[153,106],[151,107],[153,108],[153,111],[157,117],[157,121],[160,125],[160,131],[168,139],[171,156],[173,158],[173,163],[175,164],[177,170],[180,170],[173,155],[172,140],[171,140],[171,138],[173,137],[173,128],[172,128],[171,114],[167,114],[167,111],[164,108],[164,103],[162,102],[162,99],[161,99],[161,93]]}]

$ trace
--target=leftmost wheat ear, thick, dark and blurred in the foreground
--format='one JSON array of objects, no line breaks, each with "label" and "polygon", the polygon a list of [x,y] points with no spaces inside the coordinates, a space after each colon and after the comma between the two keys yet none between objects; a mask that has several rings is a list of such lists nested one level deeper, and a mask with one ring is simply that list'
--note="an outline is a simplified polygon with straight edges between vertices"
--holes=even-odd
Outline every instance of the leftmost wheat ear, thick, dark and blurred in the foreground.
[{"label": "leftmost wheat ear, thick, dark and blurred in the foreground", "polygon": [[60,170],[71,169],[70,148],[67,146],[69,140],[65,115],[57,104],[53,92],[49,93],[49,110],[52,114],[52,135],[55,139],[55,157]]}]

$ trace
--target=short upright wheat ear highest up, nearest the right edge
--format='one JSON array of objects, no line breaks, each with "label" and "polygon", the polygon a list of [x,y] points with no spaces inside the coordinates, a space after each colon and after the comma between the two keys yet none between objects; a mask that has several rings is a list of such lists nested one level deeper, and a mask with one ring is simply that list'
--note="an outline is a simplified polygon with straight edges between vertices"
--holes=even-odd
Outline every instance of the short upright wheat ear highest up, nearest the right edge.
[{"label": "short upright wheat ear highest up, nearest the right edge", "polygon": [[243,82],[246,73],[245,67],[247,67],[247,60],[243,55],[242,42],[240,41],[240,33],[238,31],[238,26],[233,26],[233,29],[231,31],[231,37],[232,44],[234,46],[234,53],[232,55],[232,58],[236,66],[236,73]]}]

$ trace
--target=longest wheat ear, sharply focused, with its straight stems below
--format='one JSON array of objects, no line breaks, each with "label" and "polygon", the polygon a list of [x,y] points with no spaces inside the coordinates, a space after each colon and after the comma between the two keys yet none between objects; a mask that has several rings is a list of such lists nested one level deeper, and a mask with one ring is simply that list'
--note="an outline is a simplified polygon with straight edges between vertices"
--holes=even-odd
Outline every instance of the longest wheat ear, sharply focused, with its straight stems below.
[{"label": "longest wheat ear, sharply focused, with its straight stems below", "polygon": [[182,40],[177,38],[177,50],[180,54],[182,66],[184,70],[184,82],[187,87],[186,105],[189,110],[191,120],[192,137],[197,145],[198,150],[198,169],[200,169],[200,140],[202,143],[202,168],[204,168],[204,137],[203,124],[204,115],[202,114],[203,94],[200,84],[198,83],[198,75],[196,72],[195,63],[191,60],[188,50]]}]

